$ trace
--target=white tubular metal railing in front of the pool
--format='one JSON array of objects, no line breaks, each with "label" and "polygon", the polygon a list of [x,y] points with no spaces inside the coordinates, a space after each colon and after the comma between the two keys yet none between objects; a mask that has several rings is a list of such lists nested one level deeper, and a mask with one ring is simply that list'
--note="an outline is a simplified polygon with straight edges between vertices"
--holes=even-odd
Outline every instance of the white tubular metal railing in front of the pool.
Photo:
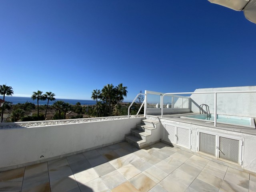
[{"label": "white tubular metal railing in front of the pool", "polygon": [[214,126],[217,124],[217,94],[219,93],[256,93],[256,91],[210,91],[210,92],[182,92],[182,93],[165,93],[161,100],[161,117],[163,117],[163,98],[166,95],[173,94],[214,94]]}]

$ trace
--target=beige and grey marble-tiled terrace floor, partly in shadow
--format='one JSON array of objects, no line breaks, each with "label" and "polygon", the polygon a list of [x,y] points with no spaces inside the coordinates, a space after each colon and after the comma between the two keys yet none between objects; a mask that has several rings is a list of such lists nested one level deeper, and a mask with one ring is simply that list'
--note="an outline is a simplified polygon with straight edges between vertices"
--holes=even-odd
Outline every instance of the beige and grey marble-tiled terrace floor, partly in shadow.
[{"label": "beige and grey marble-tiled terrace floor, partly in shadow", "polygon": [[0,172],[0,191],[256,192],[256,176],[161,142],[142,150],[121,142]]}]

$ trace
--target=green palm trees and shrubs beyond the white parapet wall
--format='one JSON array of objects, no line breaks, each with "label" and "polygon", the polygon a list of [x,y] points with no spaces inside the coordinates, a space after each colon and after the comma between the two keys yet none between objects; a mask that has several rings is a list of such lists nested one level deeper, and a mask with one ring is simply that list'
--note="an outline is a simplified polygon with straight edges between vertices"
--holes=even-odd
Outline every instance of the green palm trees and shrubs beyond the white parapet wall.
[{"label": "green palm trees and shrubs beyond the white parapet wall", "polygon": [[[142,91],[140,91],[142,92]],[[106,117],[106,116],[124,116],[128,113],[128,107],[130,103],[123,103],[124,97],[127,96],[127,87],[122,83],[114,86],[113,84],[106,84],[102,90],[95,89],[92,91],[91,98],[96,100],[96,104],[92,106],[82,106],[80,102],[75,105],[65,103],[64,101],[56,101],[53,105],[49,106],[50,101],[56,100],[55,94],[52,92],[46,92],[38,90],[33,92],[31,98],[37,100],[37,106],[33,103],[26,102],[23,104],[11,105],[11,102],[2,102],[1,122],[3,121],[4,111],[7,114],[11,114],[10,118],[6,121],[42,121],[42,120],[61,120],[61,119],[75,119],[75,118],[89,118],[89,117]],[[6,85],[0,85],[0,94],[12,96],[12,87]],[[39,105],[39,100],[47,100],[47,104]],[[136,102],[130,109],[130,114],[135,115],[141,103],[144,100],[144,96],[138,96]],[[37,108],[37,111],[36,111]],[[143,109],[141,110],[143,113]],[[37,114],[35,114],[35,112]]]}]

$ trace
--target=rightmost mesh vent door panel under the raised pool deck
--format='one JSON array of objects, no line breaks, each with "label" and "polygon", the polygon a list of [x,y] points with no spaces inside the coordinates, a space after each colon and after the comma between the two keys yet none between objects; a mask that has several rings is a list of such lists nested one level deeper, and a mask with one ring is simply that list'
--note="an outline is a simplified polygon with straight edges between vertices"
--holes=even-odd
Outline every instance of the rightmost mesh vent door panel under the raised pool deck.
[{"label": "rightmost mesh vent door panel under the raised pool deck", "polygon": [[235,163],[239,161],[239,140],[220,137],[219,156]]}]

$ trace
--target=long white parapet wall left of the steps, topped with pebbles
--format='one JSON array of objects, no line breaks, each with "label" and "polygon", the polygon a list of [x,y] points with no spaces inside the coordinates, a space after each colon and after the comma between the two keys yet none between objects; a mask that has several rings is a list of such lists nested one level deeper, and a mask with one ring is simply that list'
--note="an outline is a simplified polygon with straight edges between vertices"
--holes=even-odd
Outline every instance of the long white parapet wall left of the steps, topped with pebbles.
[{"label": "long white parapet wall left of the steps, topped with pebbles", "polygon": [[[48,122],[57,124],[59,120]],[[141,118],[123,118],[29,128],[2,128],[0,129],[0,171],[124,141],[125,135],[140,122]],[[9,125],[12,124],[14,123]]]}]

